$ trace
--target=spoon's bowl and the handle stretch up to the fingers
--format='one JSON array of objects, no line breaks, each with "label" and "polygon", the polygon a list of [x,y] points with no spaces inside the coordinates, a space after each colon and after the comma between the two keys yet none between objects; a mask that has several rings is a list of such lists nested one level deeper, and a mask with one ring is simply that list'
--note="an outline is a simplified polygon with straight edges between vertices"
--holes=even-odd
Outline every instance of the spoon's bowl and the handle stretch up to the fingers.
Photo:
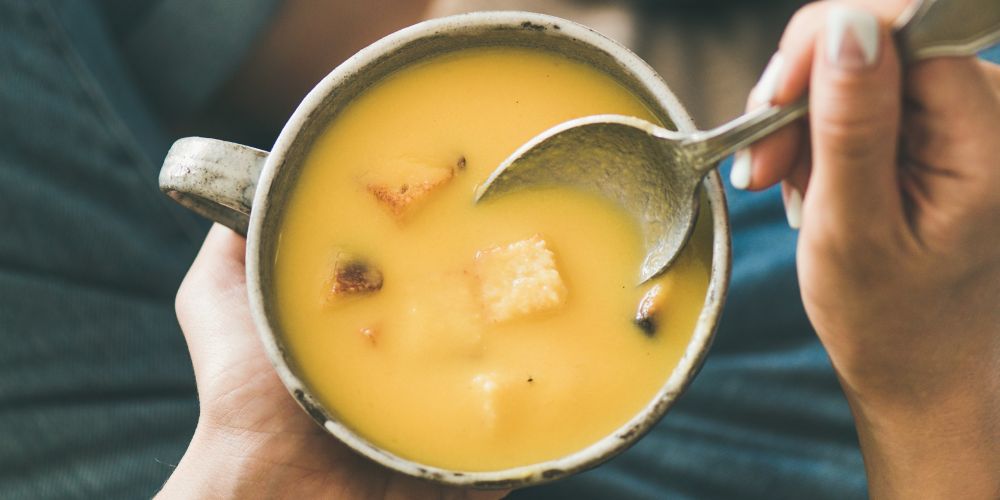
[{"label": "spoon's bowl and the handle stretch up to the fingers", "polygon": [[623,115],[570,120],[521,146],[477,188],[475,199],[570,186],[612,200],[639,224],[645,251],[641,284],[669,267],[690,238],[698,216],[697,187],[705,175],[731,149],[804,114],[804,104],[771,107],[690,134]]}]

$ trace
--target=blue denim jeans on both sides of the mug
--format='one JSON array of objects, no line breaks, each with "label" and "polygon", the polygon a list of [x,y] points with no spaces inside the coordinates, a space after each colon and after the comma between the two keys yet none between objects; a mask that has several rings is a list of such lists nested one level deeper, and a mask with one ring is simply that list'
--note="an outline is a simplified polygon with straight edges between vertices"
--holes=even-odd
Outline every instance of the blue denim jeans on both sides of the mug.
[{"label": "blue denim jeans on both sides of the mug", "polygon": [[[202,4],[244,22],[209,31],[187,82],[156,71],[198,64],[185,37],[104,10],[135,3],[0,0],[0,498],[151,496],[182,455],[198,403],[173,296],[207,224],[158,192],[163,117],[210,95],[269,3]],[[728,194],[733,284],[690,390],[628,452],[515,498],[865,496],[778,193]]]}]

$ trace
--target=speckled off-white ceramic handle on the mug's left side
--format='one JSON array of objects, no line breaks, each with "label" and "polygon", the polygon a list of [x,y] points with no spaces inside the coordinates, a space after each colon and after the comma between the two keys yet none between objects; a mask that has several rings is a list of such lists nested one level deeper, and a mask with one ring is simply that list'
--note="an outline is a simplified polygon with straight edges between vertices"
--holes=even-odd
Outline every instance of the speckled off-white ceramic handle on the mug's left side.
[{"label": "speckled off-white ceramic handle on the mug's left side", "polygon": [[163,160],[160,191],[198,215],[246,236],[267,155],[267,151],[217,139],[179,139]]}]

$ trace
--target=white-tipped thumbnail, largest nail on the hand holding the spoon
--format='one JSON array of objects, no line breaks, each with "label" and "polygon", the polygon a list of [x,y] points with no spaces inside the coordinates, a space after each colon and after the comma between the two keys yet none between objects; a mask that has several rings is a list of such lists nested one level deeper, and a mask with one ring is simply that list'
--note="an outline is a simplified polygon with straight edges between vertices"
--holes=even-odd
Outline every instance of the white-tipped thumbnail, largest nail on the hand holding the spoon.
[{"label": "white-tipped thumbnail, largest nail on the hand holding the spoon", "polygon": [[867,11],[835,5],[826,25],[826,58],[846,69],[871,66],[878,57],[878,20]]}]

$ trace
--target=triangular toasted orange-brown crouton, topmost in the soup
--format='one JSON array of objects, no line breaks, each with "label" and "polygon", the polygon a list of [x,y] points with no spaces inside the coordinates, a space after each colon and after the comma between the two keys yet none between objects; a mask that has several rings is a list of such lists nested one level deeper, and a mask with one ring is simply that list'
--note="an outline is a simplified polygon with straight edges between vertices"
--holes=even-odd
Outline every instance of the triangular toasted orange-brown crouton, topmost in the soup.
[{"label": "triangular toasted orange-brown crouton, topmost in the soup", "polygon": [[452,166],[396,162],[365,176],[365,187],[396,220],[404,219],[455,175]]}]

